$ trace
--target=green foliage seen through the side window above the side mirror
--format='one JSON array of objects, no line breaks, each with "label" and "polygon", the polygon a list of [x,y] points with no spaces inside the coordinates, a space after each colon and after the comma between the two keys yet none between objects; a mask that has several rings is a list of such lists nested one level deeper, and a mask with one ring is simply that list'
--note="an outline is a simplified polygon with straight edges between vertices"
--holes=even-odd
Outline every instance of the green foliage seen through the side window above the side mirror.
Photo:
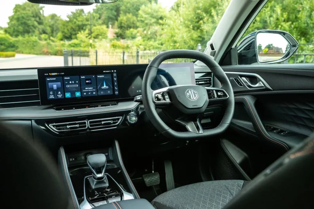
[{"label": "green foliage seen through the side window above the side mirror", "polygon": [[314,38],[314,1],[269,0],[257,14],[243,37],[256,30],[283,30],[299,43],[312,43]]}]

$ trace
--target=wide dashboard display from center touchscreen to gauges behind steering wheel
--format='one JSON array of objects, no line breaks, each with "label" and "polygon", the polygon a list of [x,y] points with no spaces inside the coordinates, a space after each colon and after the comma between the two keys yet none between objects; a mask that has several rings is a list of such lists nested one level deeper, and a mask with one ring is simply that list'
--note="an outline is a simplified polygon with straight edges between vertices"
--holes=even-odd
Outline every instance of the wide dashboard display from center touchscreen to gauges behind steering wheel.
[{"label": "wide dashboard display from center touchscreen to gauges behind steering wheel", "polygon": [[[141,94],[147,64],[39,68],[42,105],[131,98]],[[151,87],[195,84],[193,63],[161,64]]]}]

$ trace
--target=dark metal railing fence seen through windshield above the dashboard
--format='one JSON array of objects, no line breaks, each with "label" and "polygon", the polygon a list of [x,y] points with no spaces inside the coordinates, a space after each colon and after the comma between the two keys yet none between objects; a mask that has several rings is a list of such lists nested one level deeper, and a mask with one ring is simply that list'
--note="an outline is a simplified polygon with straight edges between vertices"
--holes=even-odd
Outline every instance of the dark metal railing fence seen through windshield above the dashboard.
[{"label": "dark metal railing fence seen through windshield above the dashboard", "polygon": [[[197,49],[203,51],[202,49]],[[64,66],[148,64],[163,51],[102,51],[64,50]],[[191,62],[193,59],[179,58],[166,60],[167,63]]]}]

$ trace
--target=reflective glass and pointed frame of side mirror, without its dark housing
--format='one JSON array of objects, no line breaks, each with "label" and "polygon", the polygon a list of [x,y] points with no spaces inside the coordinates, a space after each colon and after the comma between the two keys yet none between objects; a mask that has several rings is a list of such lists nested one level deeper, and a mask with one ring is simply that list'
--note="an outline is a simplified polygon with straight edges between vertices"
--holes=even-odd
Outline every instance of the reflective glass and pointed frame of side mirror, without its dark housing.
[{"label": "reflective glass and pointed frame of side mirror, without its dark housing", "polygon": [[259,64],[272,64],[289,59],[299,44],[285,31],[260,30],[255,34],[256,57]]}]

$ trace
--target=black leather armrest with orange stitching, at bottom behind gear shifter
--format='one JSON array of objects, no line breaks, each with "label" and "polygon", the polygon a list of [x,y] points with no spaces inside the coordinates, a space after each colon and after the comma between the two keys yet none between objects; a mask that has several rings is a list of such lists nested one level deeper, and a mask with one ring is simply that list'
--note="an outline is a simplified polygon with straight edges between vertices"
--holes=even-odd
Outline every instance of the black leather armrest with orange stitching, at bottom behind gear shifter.
[{"label": "black leather armrest with orange stitching, at bottom behind gear shifter", "polygon": [[124,200],[98,206],[97,209],[154,209],[145,199]]}]

